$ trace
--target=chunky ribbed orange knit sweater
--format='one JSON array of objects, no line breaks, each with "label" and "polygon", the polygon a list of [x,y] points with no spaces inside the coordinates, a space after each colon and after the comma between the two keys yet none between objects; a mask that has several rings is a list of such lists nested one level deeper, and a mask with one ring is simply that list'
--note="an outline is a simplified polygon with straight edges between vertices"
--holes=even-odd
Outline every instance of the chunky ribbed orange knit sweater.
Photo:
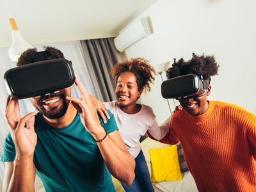
[{"label": "chunky ribbed orange knit sweater", "polygon": [[198,191],[256,191],[256,116],[233,104],[209,102],[207,111],[172,116],[161,142],[182,144]]}]

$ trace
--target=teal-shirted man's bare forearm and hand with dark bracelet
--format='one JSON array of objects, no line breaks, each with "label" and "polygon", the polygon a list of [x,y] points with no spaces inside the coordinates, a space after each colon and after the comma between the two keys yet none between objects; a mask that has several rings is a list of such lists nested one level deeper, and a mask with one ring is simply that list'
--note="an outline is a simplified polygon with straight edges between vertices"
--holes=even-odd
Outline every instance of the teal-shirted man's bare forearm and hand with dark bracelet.
[{"label": "teal-shirted man's bare forearm and hand with dark bracelet", "polygon": [[[98,141],[106,135],[104,128],[100,125],[97,111],[93,106],[90,96],[83,84],[76,77],[76,86],[81,93],[81,99],[66,97],[72,101],[73,106],[81,116],[81,122],[86,130],[90,132],[94,140]],[[100,153],[111,175],[120,182],[131,185],[134,180],[134,158],[129,154],[124,141],[118,131],[113,131],[102,142],[97,142]]]}]

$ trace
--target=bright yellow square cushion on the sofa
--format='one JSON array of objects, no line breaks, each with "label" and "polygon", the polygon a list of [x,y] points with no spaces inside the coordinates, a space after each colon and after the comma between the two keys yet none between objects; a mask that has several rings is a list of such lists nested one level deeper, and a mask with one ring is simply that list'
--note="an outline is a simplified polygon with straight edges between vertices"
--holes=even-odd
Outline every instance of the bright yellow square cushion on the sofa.
[{"label": "bright yellow square cushion on the sofa", "polygon": [[152,182],[163,180],[182,180],[177,146],[150,148]]}]

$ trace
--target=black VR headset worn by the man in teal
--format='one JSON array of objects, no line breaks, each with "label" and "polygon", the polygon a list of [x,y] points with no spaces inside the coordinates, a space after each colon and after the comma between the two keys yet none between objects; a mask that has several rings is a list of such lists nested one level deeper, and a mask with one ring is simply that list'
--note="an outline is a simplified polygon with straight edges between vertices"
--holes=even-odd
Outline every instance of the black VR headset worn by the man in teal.
[{"label": "black VR headset worn by the man in teal", "polygon": [[[75,82],[74,70],[71,61],[65,59],[45,60],[22,65],[7,70],[4,74],[6,89],[15,99],[26,99],[54,93],[72,86]],[[42,61],[43,60],[43,61]]]}]

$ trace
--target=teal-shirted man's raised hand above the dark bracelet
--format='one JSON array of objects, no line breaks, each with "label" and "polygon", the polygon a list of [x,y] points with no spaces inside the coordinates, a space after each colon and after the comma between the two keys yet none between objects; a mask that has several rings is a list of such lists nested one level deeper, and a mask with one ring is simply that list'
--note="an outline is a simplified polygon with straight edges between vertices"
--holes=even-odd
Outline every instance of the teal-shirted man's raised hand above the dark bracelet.
[{"label": "teal-shirted man's raised hand above the dark bracelet", "polygon": [[[95,134],[97,135],[98,133],[100,134],[99,138],[103,138],[105,131],[100,125],[97,111],[93,106],[86,88],[77,77],[75,83],[81,93],[81,99],[74,97],[67,97],[67,99],[72,101],[73,106],[80,113],[82,124],[86,130],[93,135],[93,138],[95,138]],[[97,137],[95,140],[97,140]]]}]

